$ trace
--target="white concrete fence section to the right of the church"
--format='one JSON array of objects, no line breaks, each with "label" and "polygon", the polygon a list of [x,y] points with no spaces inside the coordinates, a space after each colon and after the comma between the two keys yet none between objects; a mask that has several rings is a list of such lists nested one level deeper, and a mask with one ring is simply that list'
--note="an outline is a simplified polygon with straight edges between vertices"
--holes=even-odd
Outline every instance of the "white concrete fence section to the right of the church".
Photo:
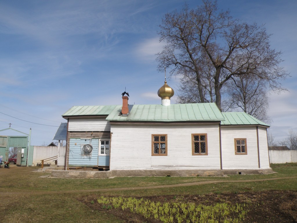
[{"label": "white concrete fence section to the right of the church", "polygon": [[297,150],[269,150],[270,163],[297,163]]}]

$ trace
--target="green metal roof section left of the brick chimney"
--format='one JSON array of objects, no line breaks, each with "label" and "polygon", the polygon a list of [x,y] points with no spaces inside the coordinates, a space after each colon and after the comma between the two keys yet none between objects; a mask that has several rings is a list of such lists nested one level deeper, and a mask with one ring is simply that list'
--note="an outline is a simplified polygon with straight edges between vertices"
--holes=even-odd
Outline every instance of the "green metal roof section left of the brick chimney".
[{"label": "green metal roof section left of the brick chimney", "polygon": [[114,109],[121,109],[121,105],[102,105],[102,106],[73,106],[62,116],[77,115],[109,115]]}]

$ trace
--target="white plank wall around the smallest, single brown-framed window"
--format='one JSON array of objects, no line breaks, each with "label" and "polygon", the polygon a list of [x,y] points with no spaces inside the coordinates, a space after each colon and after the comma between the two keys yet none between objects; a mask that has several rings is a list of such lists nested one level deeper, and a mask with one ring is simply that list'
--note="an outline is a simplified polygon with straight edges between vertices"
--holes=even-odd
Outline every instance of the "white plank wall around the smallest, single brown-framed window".
[{"label": "white plank wall around the smallest, single brown-framed window", "polygon": [[[221,126],[223,169],[259,169],[255,126]],[[247,155],[235,155],[235,138],[247,139]]]}]

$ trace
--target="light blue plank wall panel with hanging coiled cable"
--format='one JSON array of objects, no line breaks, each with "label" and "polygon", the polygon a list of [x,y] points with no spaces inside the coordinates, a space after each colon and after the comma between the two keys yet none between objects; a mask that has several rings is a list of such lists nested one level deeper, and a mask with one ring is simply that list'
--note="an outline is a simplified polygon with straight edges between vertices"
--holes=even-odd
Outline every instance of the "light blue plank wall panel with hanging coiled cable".
[{"label": "light blue plank wall panel with hanging coiled cable", "polygon": [[91,145],[93,146],[91,156],[83,155],[81,151],[82,144],[90,144],[90,140],[85,141],[85,139],[69,139],[69,166],[97,167],[99,139],[91,140]]}]

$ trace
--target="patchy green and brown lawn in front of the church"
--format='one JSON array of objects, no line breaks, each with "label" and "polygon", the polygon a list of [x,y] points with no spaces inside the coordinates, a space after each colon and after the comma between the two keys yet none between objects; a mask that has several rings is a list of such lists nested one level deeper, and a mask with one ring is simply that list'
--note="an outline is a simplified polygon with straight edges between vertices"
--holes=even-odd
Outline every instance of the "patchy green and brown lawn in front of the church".
[{"label": "patchy green and brown lawn in front of the church", "polygon": [[[49,174],[32,172],[37,170],[36,167],[1,168],[1,221],[9,219],[10,222],[121,222],[111,214],[92,211],[86,205],[79,202],[78,197],[90,194],[90,192],[84,192],[83,190],[123,187],[136,188],[124,191],[92,192],[98,197],[219,194],[224,192],[237,193],[240,191],[264,190],[297,191],[297,178],[137,189],[137,187],[143,186],[171,185],[209,180],[231,181],[297,177],[297,163],[272,164],[271,167],[277,173],[268,175],[232,175],[228,177],[119,177],[113,179],[40,178]],[[13,174],[11,174],[12,170],[17,171],[13,171]],[[80,192],[78,193],[76,191]]]}]

